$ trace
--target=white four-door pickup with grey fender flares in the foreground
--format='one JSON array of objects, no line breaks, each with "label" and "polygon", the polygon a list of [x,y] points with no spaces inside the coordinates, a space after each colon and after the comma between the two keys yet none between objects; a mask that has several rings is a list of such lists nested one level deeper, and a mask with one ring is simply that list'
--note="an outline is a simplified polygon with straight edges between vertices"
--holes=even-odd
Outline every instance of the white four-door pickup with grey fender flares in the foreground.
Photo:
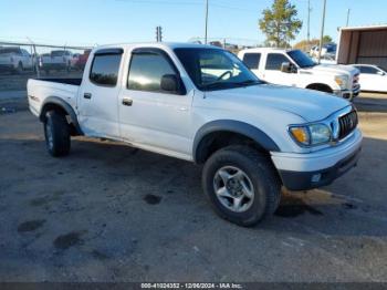
[{"label": "white four-door pickup with grey fender flares in the foreground", "polygon": [[274,213],[282,185],[331,184],[362,147],[347,101],[265,84],[232,53],[200,44],[100,46],[82,80],[29,80],[28,97],[51,155],[85,135],[203,164],[217,213],[242,226]]}]

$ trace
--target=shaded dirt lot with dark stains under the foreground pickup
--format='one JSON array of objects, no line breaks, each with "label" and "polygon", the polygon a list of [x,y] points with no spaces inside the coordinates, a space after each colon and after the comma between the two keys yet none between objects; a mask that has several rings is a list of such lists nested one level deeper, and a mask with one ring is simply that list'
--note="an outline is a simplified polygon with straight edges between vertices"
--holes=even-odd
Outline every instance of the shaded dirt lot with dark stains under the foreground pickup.
[{"label": "shaded dirt lot with dark stains under the foreground pickup", "polygon": [[213,214],[190,163],[86,138],[51,158],[41,124],[7,101],[17,112],[0,113],[0,280],[387,281],[386,103],[364,99],[358,167],[284,193],[254,228]]}]

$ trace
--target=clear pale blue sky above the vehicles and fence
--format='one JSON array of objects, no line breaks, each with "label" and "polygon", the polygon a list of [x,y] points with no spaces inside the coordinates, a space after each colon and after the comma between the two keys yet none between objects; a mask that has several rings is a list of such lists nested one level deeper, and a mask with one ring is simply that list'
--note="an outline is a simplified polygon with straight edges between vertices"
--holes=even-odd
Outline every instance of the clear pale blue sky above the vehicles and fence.
[{"label": "clear pale blue sky above the vehicles and fence", "polygon": [[[311,38],[320,38],[323,0],[311,1]],[[387,23],[387,0],[326,0],[325,34],[337,39],[337,28]],[[205,35],[206,0],[0,0],[0,41],[95,45],[154,41],[163,27],[164,41],[188,41]],[[210,39],[240,44],[263,43],[258,20],[273,0],[209,0]],[[307,0],[291,0],[306,39]]]}]

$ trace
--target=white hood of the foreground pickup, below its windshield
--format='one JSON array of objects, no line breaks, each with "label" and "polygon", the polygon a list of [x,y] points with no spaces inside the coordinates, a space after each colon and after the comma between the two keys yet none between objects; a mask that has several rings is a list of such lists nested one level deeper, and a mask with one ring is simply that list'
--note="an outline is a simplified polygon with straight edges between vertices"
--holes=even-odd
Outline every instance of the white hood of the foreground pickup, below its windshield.
[{"label": "white hood of the foreground pickup, below its windshield", "polygon": [[324,120],[349,105],[332,94],[272,84],[206,92],[206,97],[219,100],[218,104],[228,103],[228,107],[234,103],[236,107],[253,108],[258,114],[263,107],[272,107],[296,114],[306,122]]}]

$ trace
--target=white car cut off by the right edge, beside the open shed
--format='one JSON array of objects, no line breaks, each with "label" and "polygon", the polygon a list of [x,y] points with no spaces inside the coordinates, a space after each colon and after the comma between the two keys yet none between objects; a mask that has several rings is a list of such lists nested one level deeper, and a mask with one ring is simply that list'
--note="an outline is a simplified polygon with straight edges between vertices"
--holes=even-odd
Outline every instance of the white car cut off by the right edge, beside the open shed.
[{"label": "white car cut off by the right edge, beside the open shed", "polygon": [[354,64],[360,71],[362,91],[387,93],[387,70],[373,64]]}]

